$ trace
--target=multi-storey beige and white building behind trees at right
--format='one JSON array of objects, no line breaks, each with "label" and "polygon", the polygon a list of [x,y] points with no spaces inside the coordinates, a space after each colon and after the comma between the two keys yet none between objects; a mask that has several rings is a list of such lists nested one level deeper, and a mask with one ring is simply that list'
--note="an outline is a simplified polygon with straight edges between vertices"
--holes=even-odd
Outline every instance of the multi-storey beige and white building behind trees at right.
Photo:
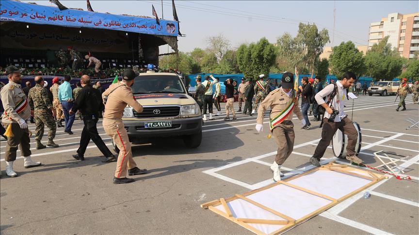
[{"label": "multi-storey beige and white building behind trees at right", "polygon": [[400,56],[414,58],[414,53],[419,52],[419,12],[406,15],[391,13],[380,22],[371,23],[369,49],[387,36],[388,43],[398,49]]}]

